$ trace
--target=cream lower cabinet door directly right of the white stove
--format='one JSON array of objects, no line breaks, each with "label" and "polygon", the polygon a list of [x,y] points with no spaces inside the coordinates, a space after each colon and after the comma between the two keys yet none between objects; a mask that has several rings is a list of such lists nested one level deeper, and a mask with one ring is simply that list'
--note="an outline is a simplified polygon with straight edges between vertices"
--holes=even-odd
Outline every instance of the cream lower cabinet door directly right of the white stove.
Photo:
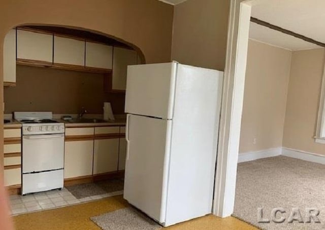
[{"label": "cream lower cabinet door directly right of the white stove", "polygon": [[93,140],[66,141],[64,178],[92,175]]}]

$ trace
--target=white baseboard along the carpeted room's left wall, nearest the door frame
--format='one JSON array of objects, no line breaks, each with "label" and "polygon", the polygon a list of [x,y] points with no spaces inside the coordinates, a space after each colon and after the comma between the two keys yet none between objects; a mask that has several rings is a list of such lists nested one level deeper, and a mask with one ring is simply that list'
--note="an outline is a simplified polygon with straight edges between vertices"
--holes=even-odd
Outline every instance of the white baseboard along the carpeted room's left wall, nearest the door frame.
[{"label": "white baseboard along the carpeted room's left wall, nearest the door frame", "polygon": [[281,152],[282,152],[281,147],[269,148],[269,149],[264,149],[264,150],[251,151],[251,152],[244,152],[243,154],[239,154],[238,163],[280,156]]}]

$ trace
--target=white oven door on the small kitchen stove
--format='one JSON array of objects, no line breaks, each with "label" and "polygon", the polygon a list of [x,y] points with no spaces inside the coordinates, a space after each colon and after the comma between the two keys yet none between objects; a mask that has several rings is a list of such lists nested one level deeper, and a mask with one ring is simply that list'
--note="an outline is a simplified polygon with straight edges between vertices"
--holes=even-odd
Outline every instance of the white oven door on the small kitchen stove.
[{"label": "white oven door on the small kitchen stove", "polygon": [[63,165],[63,133],[23,136],[22,173],[62,169]]}]

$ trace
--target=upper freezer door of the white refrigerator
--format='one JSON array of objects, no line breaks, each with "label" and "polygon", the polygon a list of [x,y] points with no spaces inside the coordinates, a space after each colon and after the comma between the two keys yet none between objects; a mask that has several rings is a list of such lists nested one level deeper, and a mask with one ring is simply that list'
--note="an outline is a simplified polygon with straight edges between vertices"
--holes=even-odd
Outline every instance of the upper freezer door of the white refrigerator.
[{"label": "upper freezer door of the white refrigerator", "polygon": [[125,112],[172,119],[177,63],[127,67]]}]

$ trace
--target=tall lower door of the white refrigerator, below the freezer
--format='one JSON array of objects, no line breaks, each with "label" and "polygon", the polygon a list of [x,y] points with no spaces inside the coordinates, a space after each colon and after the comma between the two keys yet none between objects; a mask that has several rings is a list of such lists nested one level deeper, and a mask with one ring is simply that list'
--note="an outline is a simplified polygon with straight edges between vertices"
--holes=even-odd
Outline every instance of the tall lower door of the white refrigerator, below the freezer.
[{"label": "tall lower door of the white refrigerator, below the freezer", "polygon": [[165,222],[172,121],[128,114],[124,199]]}]

